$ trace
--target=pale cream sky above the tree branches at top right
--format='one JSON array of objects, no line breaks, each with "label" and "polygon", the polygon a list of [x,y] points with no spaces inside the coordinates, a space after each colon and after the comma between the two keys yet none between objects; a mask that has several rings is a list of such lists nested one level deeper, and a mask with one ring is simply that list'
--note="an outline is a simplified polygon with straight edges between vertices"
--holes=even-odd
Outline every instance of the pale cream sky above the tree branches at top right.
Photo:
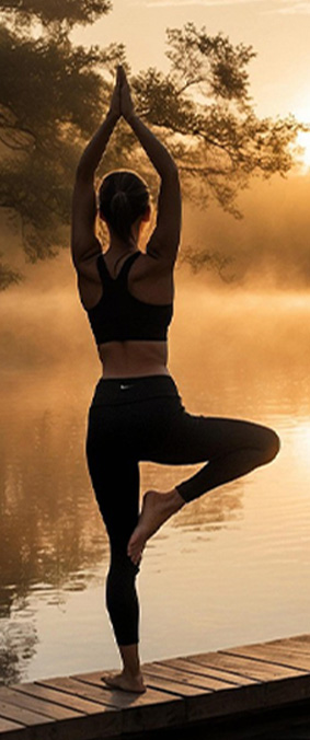
[{"label": "pale cream sky above the tree branches at top right", "polygon": [[165,28],[188,21],[253,46],[250,92],[259,116],[310,120],[310,0],[113,0],[107,15],[72,38],[103,47],[122,42],[133,73],[169,71]]}]

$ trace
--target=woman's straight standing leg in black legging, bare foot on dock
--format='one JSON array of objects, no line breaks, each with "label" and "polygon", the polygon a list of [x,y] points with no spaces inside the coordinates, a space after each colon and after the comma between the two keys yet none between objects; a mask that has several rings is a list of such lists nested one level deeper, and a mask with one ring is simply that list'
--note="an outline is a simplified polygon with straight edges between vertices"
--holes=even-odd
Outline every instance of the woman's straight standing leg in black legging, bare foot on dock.
[{"label": "woman's straight standing leg in black legging, bare foot on dock", "polygon": [[[105,416],[102,425],[101,415]],[[136,592],[138,564],[127,554],[128,540],[139,517],[139,466],[130,455],[113,442],[106,409],[91,409],[87,439],[87,459],[99,508],[104,520],[111,548],[106,579],[106,606],[113,625],[124,669],[105,677],[110,685],[143,692],[138,651],[139,603]]]}]

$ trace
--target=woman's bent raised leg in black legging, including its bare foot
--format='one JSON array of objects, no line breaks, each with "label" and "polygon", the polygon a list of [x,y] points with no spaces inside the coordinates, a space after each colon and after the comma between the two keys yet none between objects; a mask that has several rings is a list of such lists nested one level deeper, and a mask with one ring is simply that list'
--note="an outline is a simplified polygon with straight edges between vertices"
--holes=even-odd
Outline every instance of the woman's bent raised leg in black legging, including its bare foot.
[{"label": "woman's bent raised leg in black legging, including its bare foot", "polygon": [[[160,440],[162,435],[158,435]],[[128,554],[138,562],[147,540],[185,504],[229,481],[271,462],[279,450],[277,435],[249,421],[194,416],[180,404],[169,433],[159,441],[153,462],[169,465],[207,463],[171,492],[147,492],[141,517],[128,543]]]}]

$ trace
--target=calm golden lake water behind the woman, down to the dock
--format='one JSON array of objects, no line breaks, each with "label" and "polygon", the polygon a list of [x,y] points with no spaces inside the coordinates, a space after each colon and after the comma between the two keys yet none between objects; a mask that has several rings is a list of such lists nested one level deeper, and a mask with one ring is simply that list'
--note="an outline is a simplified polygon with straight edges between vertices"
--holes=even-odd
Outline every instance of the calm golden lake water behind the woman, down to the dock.
[{"label": "calm golden lake water behind the woman, down to the dock", "polygon": [[[4,683],[119,664],[104,605],[107,539],[84,459],[100,367],[78,313],[84,354],[74,334],[66,362],[43,349],[42,367],[37,351],[32,366],[30,346],[37,349],[46,315],[33,345],[25,331],[26,358],[22,343],[9,345],[2,371]],[[276,429],[282,450],[272,464],[184,507],[149,542],[138,578],[142,660],[309,631],[309,319],[307,294],[202,299],[184,288],[179,298],[170,368],[188,411],[262,421]],[[142,463],[141,492],[171,488],[198,467]]]}]

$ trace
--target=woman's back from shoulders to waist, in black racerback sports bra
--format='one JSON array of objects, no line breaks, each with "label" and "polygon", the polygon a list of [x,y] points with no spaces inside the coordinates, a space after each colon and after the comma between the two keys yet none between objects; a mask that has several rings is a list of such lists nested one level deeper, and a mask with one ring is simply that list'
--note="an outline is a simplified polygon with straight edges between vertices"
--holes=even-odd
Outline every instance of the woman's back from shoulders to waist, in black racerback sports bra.
[{"label": "woman's back from shoulders to waist, in black racerback sports bra", "polygon": [[[173,313],[173,265],[138,250],[115,258],[111,247],[89,265],[80,293],[106,378],[167,374]],[[116,269],[117,268],[117,269]]]}]

